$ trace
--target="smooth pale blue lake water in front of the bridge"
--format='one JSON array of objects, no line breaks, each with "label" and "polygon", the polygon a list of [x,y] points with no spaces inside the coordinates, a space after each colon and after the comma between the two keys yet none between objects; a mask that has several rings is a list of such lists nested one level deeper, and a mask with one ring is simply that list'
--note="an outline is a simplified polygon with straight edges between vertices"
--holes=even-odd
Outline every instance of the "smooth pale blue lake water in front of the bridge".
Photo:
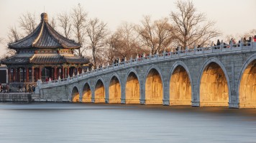
[{"label": "smooth pale blue lake water in front of the bridge", "polygon": [[256,142],[256,109],[1,103],[0,142]]}]

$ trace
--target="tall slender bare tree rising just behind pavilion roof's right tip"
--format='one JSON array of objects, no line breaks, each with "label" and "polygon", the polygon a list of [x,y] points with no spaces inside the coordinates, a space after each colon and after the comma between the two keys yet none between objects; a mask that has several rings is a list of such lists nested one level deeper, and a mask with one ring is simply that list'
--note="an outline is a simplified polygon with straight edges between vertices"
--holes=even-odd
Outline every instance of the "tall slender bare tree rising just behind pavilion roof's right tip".
[{"label": "tall slender bare tree rising just behind pavilion roof's right tip", "polygon": [[73,32],[76,41],[82,45],[78,51],[75,51],[79,56],[82,56],[82,52],[86,50],[86,22],[87,13],[83,6],[78,4],[76,8],[73,8],[71,13],[71,19],[73,20]]}]

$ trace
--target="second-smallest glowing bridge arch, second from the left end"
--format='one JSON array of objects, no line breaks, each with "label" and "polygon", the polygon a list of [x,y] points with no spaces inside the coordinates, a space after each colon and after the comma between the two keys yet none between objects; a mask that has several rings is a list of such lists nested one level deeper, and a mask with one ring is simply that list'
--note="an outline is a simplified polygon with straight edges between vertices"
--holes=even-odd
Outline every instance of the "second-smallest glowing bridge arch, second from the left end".
[{"label": "second-smallest glowing bridge arch, second from the left end", "polygon": [[88,81],[83,83],[81,95],[82,102],[91,102],[91,90],[91,85]]}]

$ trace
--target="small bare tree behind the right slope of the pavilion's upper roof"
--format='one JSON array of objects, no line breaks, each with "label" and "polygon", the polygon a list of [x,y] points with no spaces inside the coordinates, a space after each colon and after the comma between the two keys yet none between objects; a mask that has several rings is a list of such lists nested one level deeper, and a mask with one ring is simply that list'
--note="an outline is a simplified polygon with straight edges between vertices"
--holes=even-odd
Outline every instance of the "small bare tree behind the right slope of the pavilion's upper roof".
[{"label": "small bare tree behind the right slope of the pavilion's upper roof", "polygon": [[71,17],[68,13],[58,14],[58,23],[60,28],[63,30],[63,34],[66,38],[70,39],[71,37]]}]

